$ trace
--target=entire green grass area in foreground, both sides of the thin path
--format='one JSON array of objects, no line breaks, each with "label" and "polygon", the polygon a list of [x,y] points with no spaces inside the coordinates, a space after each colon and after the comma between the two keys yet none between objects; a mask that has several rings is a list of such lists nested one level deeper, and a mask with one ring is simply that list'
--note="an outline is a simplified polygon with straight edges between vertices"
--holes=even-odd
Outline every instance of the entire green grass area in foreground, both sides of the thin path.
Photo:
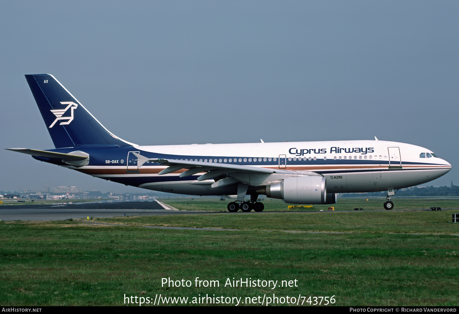
[{"label": "entire green grass area in foreground, both sides of the thin path", "polygon": [[[333,296],[335,305],[457,305],[459,233],[453,211],[149,216],[94,221],[310,234],[158,230],[136,225],[0,223],[0,303],[123,305],[128,296]],[[161,279],[220,287],[162,287]],[[227,278],[298,280],[298,287],[224,287]],[[306,304],[306,303],[305,303]]]}]

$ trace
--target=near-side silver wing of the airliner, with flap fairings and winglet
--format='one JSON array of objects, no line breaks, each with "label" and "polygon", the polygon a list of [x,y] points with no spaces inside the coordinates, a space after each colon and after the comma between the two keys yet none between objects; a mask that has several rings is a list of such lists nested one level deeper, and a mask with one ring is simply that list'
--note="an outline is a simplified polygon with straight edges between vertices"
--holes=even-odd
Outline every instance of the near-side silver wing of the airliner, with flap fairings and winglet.
[{"label": "near-side silver wing of the airliner, with flap fairings and winglet", "polygon": [[[205,162],[197,162],[192,160],[178,160],[178,159],[163,159],[163,158],[147,158],[144,157],[136,152],[133,154],[138,158],[137,159],[137,166],[140,168],[144,163],[147,161],[153,163],[161,163],[163,165],[169,166],[168,168],[159,172],[159,174],[169,174],[180,169],[189,169],[179,176],[181,178],[190,176],[193,174],[197,174],[200,172],[206,172],[205,174],[201,175],[197,178],[198,181],[212,179],[220,177],[224,174],[235,174],[235,173],[244,173],[244,174],[289,174],[289,175],[313,175],[313,176],[321,176],[322,174],[318,174],[312,171],[292,171],[292,170],[284,170],[284,169],[272,169],[272,168],[263,168],[263,167],[256,167],[256,166],[246,166],[246,165],[235,165],[229,163],[205,163]],[[226,184],[229,184],[231,180],[226,178]],[[233,179],[233,183],[239,182],[237,179]],[[221,186],[221,185],[219,185]]]}]

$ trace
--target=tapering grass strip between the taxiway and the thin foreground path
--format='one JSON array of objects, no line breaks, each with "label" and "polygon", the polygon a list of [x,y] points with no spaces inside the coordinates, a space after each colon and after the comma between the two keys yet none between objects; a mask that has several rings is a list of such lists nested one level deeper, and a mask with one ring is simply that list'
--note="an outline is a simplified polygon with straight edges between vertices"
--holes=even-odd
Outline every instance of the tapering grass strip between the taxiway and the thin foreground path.
[{"label": "tapering grass strip between the taxiway and the thin foreground path", "polygon": [[[95,222],[242,230],[459,234],[453,210],[441,212],[244,213],[97,218]],[[80,219],[84,221],[84,219]]]}]

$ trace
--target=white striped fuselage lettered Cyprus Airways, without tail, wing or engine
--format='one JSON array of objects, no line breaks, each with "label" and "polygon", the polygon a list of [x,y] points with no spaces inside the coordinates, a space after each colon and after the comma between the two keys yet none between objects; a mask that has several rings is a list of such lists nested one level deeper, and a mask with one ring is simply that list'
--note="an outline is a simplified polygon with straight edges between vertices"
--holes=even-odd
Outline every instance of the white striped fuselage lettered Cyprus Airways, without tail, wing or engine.
[{"label": "white striped fuselage lettered Cyprus Airways, without tail, wing or engine", "polygon": [[[421,158],[421,153],[431,156],[432,151],[426,148],[383,140],[134,146],[132,151],[151,157],[285,169],[298,174],[312,171],[324,175],[328,193],[400,189],[437,179],[451,170],[451,165],[441,158]],[[129,155],[126,158],[128,160]],[[185,169],[159,175],[166,167],[145,163],[128,170],[129,164],[92,165],[80,167],[78,171],[120,183],[141,179],[136,181],[140,183],[136,186],[156,191],[192,195],[236,193],[235,186],[212,188],[214,180],[197,181],[202,173],[179,178]],[[281,174],[247,174],[245,179],[241,175],[237,179],[256,187],[282,178]]]}]

